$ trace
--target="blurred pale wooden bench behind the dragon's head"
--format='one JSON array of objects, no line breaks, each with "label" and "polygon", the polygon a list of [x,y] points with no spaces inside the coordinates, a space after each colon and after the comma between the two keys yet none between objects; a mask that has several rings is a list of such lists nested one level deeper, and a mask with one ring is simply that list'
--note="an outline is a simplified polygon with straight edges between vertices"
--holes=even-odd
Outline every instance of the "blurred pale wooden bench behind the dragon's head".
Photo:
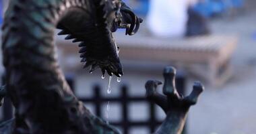
[{"label": "blurred pale wooden bench behind the dragon's head", "polygon": [[[181,65],[214,86],[231,76],[230,57],[236,48],[236,36],[200,36],[197,38],[154,38],[115,35],[122,60],[169,62]],[[199,67],[198,65],[203,65]]]}]

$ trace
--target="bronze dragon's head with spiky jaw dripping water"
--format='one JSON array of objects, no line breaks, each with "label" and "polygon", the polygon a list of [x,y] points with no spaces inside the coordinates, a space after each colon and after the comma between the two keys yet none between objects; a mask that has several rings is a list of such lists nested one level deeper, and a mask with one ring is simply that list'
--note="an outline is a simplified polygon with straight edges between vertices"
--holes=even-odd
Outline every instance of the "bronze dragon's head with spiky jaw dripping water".
[{"label": "bronze dragon's head with spiky jaw dripping water", "polygon": [[[65,40],[80,42],[79,53],[84,68],[90,68],[90,72],[100,68],[103,76],[107,73],[121,77],[123,67],[113,32],[125,28],[126,34],[131,36],[139,29],[142,19],[139,19],[123,1],[102,0],[96,4],[96,7],[100,8],[96,9],[94,20],[86,19],[90,16],[81,13],[84,12],[83,9],[73,9],[70,14],[65,14],[66,17],[64,16],[57,25],[57,28],[62,29],[58,35],[68,35]],[[82,16],[72,16],[73,14]]]}]

